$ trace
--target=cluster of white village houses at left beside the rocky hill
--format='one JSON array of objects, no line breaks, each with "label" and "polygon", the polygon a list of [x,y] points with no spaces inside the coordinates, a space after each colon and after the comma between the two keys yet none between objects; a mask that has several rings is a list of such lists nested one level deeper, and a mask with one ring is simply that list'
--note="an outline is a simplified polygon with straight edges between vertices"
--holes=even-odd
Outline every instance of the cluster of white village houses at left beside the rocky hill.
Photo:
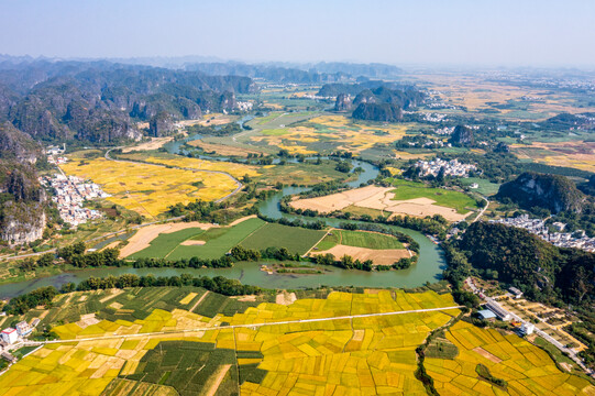
[{"label": "cluster of white village houses at left beside the rocky hill", "polygon": [[66,177],[62,174],[45,176],[41,183],[54,188],[55,196],[52,200],[56,202],[60,218],[70,226],[76,227],[102,217],[100,211],[82,207],[85,200],[109,197],[95,183],[85,183],[80,177]]}]

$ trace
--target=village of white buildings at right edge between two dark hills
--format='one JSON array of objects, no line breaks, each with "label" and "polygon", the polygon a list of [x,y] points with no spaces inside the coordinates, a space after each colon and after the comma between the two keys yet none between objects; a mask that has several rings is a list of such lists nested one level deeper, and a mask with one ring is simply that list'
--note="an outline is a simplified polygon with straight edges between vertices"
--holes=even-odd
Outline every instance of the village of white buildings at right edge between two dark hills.
[{"label": "village of white buildings at right edge between two dark hills", "polygon": [[559,248],[575,248],[586,252],[595,252],[595,238],[588,238],[584,232],[560,232],[563,231],[566,224],[562,222],[555,222],[552,226],[558,230],[551,232],[550,228],[546,226],[546,222],[541,219],[530,219],[529,215],[521,215],[516,218],[506,218],[498,220],[489,220],[489,222],[496,222],[509,227],[518,227],[526,229],[532,234],[538,235],[544,241]]}]

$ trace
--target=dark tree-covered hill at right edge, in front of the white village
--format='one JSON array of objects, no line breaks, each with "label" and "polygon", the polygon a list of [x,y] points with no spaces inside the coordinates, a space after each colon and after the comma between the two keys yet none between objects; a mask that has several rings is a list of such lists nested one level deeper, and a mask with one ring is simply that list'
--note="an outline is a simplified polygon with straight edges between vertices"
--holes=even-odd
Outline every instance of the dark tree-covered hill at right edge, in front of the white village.
[{"label": "dark tree-covered hill at right edge, in front of the white village", "polygon": [[[473,267],[513,284],[531,298],[590,304],[595,292],[595,254],[559,249],[525,229],[474,222],[458,241]],[[487,271],[487,272],[486,272]]]}]

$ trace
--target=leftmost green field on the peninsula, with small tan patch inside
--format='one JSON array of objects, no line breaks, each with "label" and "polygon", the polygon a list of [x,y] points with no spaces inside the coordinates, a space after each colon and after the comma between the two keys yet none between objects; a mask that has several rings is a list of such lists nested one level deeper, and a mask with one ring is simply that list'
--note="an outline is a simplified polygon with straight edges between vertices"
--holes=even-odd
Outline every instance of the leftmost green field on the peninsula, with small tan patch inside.
[{"label": "leftmost green field on the peninsula, with small tan patch inside", "polygon": [[[207,231],[201,229],[187,229],[168,234],[161,234],[151,242],[151,246],[134,253],[132,258],[219,258],[238,245],[247,235],[263,227],[261,219],[249,219],[233,227],[212,228]],[[205,241],[203,245],[180,245],[187,240]]]}]

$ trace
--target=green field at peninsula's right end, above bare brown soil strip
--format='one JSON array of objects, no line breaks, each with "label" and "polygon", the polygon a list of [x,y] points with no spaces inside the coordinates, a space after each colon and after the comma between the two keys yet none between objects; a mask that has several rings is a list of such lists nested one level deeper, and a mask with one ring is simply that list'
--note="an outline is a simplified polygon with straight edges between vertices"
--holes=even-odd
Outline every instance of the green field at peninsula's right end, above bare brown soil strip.
[{"label": "green field at peninsula's right end, above bare brown soil strip", "polygon": [[316,248],[319,251],[326,251],[338,244],[376,250],[405,249],[403,243],[394,237],[375,232],[346,230],[332,230]]}]

